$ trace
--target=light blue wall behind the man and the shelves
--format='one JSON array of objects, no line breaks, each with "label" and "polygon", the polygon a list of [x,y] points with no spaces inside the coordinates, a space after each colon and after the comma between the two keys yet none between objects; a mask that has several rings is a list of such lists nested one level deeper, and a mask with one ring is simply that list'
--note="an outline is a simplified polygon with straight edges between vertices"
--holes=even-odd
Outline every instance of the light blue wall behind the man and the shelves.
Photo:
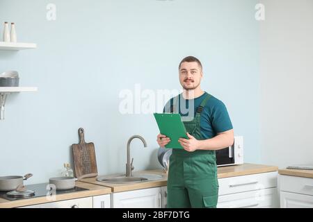
[{"label": "light blue wall behind the man and the shelves", "polygon": [[[57,19],[46,19],[47,3]],[[0,122],[0,175],[33,173],[47,182],[70,161],[77,130],[95,143],[100,174],[125,171],[126,144],[134,140],[136,170],[161,168],[157,125],[150,114],[122,115],[119,93],[179,89],[177,65],[202,60],[202,88],[221,99],[246,162],[259,162],[259,24],[251,0],[1,0],[0,22],[15,22],[20,42],[38,49],[0,51],[0,71],[17,70],[36,93],[10,95]]]}]

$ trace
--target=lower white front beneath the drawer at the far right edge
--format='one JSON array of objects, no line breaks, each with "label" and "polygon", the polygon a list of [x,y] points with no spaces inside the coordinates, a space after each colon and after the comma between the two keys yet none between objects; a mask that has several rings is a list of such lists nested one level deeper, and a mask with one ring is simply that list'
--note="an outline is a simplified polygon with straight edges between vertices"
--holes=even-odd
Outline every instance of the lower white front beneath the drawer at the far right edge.
[{"label": "lower white front beneath the drawer at the far right edge", "polygon": [[280,191],[280,207],[313,208],[313,196]]}]

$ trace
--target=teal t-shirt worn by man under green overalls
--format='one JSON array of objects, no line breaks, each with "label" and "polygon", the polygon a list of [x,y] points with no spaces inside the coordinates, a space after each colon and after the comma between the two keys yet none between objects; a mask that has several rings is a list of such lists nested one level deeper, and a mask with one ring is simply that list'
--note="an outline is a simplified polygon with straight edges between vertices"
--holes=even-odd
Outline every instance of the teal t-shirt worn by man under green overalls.
[{"label": "teal t-shirt worn by man under green overalls", "polygon": [[[195,116],[195,112],[198,106],[206,96],[207,92],[204,92],[202,96],[192,99],[193,101],[191,101],[191,99],[184,99],[182,97],[182,94],[179,94],[179,99],[177,101],[178,105],[176,105],[175,107],[178,108],[178,113],[181,114],[182,117],[186,117],[188,116],[189,103],[194,103],[193,114]],[[186,107],[186,109],[184,109],[184,112],[182,112],[181,110],[181,102],[182,104],[184,104],[183,108],[184,106]],[[168,103],[172,105],[173,98],[170,99]],[[166,105],[166,108],[170,107],[168,103]],[[170,110],[165,110],[164,108],[163,112],[170,112]],[[227,112],[225,104],[219,99],[216,99],[216,97],[211,96],[207,101],[207,104],[204,106],[200,116],[200,131],[202,133],[202,137],[204,137],[205,139],[210,139],[215,137],[217,133],[222,133],[231,129],[232,121],[230,121],[230,116]]]}]

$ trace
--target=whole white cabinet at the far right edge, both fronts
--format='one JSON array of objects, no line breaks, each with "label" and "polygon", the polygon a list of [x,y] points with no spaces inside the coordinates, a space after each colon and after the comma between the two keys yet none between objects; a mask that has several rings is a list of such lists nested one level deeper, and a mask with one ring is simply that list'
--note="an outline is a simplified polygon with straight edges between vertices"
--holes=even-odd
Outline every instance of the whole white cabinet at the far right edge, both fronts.
[{"label": "whole white cabinet at the far right edge, both fronts", "polygon": [[280,207],[313,208],[313,178],[280,175]]}]

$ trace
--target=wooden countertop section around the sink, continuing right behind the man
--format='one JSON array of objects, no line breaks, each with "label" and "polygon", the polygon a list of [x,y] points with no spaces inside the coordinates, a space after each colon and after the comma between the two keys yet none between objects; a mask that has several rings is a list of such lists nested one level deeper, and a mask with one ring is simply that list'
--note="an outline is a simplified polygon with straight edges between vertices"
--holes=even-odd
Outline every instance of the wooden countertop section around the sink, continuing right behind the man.
[{"label": "wooden countertop section around the sink, continuing right behind the man", "polygon": [[[242,164],[238,166],[218,167],[218,178],[229,178],[234,176],[243,176],[255,173],[266,173],[271,171],[278,171],[278,167],[261,164]],[[111,187],[113,193],[122,191],[131,191],[135,189],[162,187],[167,185],[168,177],[167,174],[162,169],[138,171],[136,173],[148,173],[148,174],[155,173],[162,175],[163,178],[161,180],[152,180],[148,182],[127,183],[127,184],[99,182],[97,181],[97,178],[85,178],[82,179],[81,181],[89,182],[95,185]]]}]

